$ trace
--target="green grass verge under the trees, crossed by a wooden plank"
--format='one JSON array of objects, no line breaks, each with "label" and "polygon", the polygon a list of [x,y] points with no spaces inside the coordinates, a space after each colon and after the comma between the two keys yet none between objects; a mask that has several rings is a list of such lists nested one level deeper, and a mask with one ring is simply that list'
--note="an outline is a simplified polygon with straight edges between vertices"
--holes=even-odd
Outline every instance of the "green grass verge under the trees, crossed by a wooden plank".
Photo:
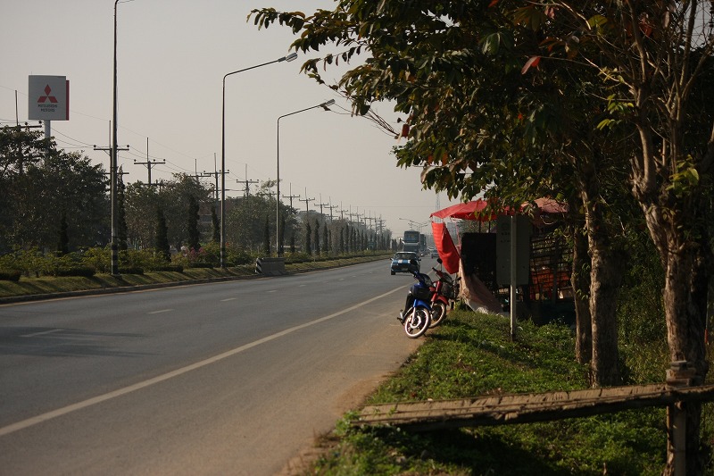
[{"label": "green grass verge under the trees, crossed by a wooden plank", "polygon": [[[511,342],[508,320],[454,311],[366,404],[587,388],[587,369],[574,355],[565,326],[520,322]],[[709,447],[712,413],[714,405],[705,405]],[[663,408],[424,433],[354,428],[349,420],[323,439],[328,449],[305,474],[655,475],[665,463]]]}]

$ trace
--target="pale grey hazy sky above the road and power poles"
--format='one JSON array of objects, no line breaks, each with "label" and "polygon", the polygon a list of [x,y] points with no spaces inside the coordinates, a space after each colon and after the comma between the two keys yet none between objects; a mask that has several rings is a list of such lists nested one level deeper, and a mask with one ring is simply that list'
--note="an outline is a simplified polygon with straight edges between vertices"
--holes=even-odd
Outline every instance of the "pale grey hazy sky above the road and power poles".
[{"label": "pale grey hazy sky above the road and power poles", "polygon": [[[70,121],[53,121],[58,146],[82,150],[93,161],[109,158],[93,146],[110,146],[112,119],[112,0],[0,0],[0,124],[28,119],[28,76],[70,80]],[[223,76],[289,53],[289,29],[258,30],[246,22],[251,9],[312,13],[334,8],[328,0],[120,0],[118,4],[119,164],[125,183],[170,179],[171,173],[220,170]],[[337,50],[331,50],[337,51]],[[371,122],[351,117],[332,90],[299,73],[292,63],[274,63],[226,79],[227,196],[243,195],[237,180],[275,180],[278,117],[336,100],[333,111],[314,109],[280,120],[281,195],[330,202],[353,213],[381,217],[400,236],[407,220],[425,223],[450,205],[445,194],[423,190],[418,169],[395,165],[397,141]],[[330,79],[338,71],[328,71]],[[17,93],[15,92],[17,91]],[[341,107],[340,107],[341,106]],[[389,104],[378,113],[398,127]],[[247,170],[247,174],[246,174]],[[212,178],[203,179],[214,183]],[[256,184],[252,185],[253,192]],[[304,210],[305,202],[294,206]],[[284,199],[287,203],[288,200]],[[451,202],[453,203],[453,202]],[[339,208],[334,213],[338,213]],[[328,210],[324,210],[328,213]],[[399,220],[400,218],[406,220]],[[424,227],[423,231],[430,232]]]}]

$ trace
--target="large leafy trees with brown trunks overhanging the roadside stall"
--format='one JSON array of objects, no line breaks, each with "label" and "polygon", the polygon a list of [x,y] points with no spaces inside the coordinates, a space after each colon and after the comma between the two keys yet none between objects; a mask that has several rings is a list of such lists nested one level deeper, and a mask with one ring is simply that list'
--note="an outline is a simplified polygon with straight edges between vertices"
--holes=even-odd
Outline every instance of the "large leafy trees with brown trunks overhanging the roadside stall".
[{"label": "large leafy trees with brown trunks overhanging the roadside stall", "polygon": [[[305,53],[338,47],[303,64],[320,83],[323,67],[359,58],[329,86],[357,114],[393,102],[408,138],[397,161],[422,167],[427,187],[467,199],[486,191],[504,205],[560,193],[582,210],[573,223],[585,226],[590,263],[578,267],[589,266],[591,280],[578,291],[590,296],[595,383],[611,384],[614,301],[628,230],[640,224],[629,190],[665,270],[671,358],[693,363],[701,379],[708,372],[714,121],[713,103],[694,99],[714,49],[702,35],[705,6],[353,0],[312,15],[262,9],[253,20],[288,26]],[[696,407],[688,455],[698,453]]]}]

